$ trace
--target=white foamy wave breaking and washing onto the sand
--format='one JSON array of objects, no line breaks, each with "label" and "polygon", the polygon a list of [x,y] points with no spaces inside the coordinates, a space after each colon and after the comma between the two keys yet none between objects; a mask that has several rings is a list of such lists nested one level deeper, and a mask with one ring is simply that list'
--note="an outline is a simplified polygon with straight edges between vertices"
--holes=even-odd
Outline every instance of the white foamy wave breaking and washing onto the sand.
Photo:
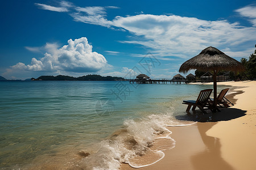
[{"label": "white foamy wave breaking and washing onto the sand", "polygon": [[[194,122],[193,124],[195,124]],[[118,169],[121,163],[133,168],[146,167],[164,158],[162,151],[175,147],[175,140],[167,126],[188,126],[191,122],[177,122],[167,114],[151,114],[138,120],[125,120],[123,129],[96,145],[80,167],[86,169]]]}]

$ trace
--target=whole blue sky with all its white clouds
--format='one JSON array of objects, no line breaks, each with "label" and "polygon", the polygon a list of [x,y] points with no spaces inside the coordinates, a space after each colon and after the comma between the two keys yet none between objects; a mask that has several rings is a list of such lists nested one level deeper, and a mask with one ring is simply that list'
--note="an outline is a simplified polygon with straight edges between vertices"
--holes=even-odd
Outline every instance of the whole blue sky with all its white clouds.
[{"label": "whole blue sky with all its white clouds", "polygon": [[0,75],[7,79],[172,78],[208,46],[239,61],[256,44],[256,1],[10,0],[0,12]]}]

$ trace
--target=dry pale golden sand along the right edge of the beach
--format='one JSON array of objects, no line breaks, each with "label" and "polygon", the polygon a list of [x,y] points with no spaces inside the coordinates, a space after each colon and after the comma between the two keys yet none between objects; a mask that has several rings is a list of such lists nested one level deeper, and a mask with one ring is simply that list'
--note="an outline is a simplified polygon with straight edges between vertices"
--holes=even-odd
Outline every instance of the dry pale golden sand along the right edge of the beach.
[{"label": "dry pale golden sand along the right edge of the beach", "polygon": [[244,91],[234,96],[233,108],[246,111],[246,115],[231,121],[221,121],[207,131],[207,135],[220,139],[221,156],[234,169],[256,169],[256,82],[224,82],[243,87]]}]

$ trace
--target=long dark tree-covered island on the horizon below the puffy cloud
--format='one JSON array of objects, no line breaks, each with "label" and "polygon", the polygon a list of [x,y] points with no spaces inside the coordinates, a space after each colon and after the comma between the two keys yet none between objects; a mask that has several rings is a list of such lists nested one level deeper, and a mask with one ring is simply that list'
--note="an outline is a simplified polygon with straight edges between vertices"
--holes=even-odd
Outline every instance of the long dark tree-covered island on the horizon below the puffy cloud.
[{"label": "long dark tree-covered island on the horizon below the puffy cloud", "polygon": [[101,75],[84,75],[84,76],[79,76],[77,78],[73,76],[68,76],[68,75],[42,75],[39,76],[39,78],[31,78],[32,81],[34,80],[53,80],[53,81],[118,81],[118,80],[125,80],[122,77],[119,76],[101,76]]}]

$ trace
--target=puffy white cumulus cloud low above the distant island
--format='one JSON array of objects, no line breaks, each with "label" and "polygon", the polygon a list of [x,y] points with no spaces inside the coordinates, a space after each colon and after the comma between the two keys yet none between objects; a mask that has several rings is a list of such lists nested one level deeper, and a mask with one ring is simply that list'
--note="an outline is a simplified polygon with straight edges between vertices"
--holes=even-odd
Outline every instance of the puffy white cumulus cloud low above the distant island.
[{"label": "puffy white cumulus cloud low above the distant island", "polygon": [[104,56],[92,51],[92,45],[88,44],[86,37],[68,40],[68,45],[57,48],[56,44],[45,46],[47,53],[41,59],[32,58],[29,65],[17,63],[12,69],[26,71],[71,71],[75,73],[96,72],[107,65]]}]

